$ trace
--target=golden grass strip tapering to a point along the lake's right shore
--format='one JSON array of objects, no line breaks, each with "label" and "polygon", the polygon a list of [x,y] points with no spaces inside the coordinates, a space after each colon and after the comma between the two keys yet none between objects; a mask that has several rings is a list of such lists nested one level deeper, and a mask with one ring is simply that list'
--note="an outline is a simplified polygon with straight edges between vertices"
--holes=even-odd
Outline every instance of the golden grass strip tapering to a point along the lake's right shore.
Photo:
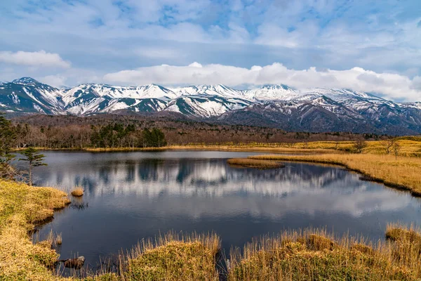
[{"label": "golden grass strip tapering to a point along the lake's right shore", "polygon": [[413,195],[421,196],[421,159],[417,157],[399,157],[396,160],[392,155],[323,154],[257,155],[249,159],[336,164],[358,171],[370,180],[410,190]]}]

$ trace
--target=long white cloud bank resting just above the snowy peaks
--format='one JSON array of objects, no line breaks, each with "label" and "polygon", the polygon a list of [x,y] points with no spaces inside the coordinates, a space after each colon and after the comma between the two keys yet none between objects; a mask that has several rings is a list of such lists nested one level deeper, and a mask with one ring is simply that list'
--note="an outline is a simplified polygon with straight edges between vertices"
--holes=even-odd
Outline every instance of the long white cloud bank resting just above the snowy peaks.
[{"label": "long white cloud bank resting just above the snowy peaks", "polygon": [[281,63],[250,69],[230,65],[187,66],[156,65],[140,67],[136,70],[123,70],[105,74],[105,81],[120,84],[287,84],[297,89],[311,87],[347,88],[356,91],[379,93],[385,98],[400,100],[421,100],[419,77],[410,79],[401,74],[376,73],[354,67],[350,70],[292,70]]}]

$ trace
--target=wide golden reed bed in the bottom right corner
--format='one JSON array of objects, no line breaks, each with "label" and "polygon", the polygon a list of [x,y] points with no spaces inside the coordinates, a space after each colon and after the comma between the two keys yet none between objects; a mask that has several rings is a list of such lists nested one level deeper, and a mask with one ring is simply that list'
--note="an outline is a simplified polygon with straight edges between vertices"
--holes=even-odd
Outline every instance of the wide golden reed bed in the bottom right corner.
[{"label": "wide golden reed bed in the bottom right corner", "polygon": [[[396,242],[366,245],[325,230],[285,232],[232,251],[228,280],[417,280],[420,253]],[[407,259],[396,255],[403,253]]]}]

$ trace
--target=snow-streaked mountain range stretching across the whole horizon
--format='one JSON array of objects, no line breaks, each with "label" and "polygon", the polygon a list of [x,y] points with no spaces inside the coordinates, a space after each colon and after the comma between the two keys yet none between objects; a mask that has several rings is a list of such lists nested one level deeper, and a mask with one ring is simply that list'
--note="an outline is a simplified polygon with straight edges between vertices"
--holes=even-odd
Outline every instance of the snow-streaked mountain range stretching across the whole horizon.
[{"label": "snow-streaked mountain range stretching across the whole horizon", "polygon": [[22,77],[0,82],[0,110],[13,115],[168,114],[286,131],[421,133],[420,102],[394,103],[350,89],[298,91],[283,84],[250,90],[220,84],[178,88],[81,84],[58,89]]}]

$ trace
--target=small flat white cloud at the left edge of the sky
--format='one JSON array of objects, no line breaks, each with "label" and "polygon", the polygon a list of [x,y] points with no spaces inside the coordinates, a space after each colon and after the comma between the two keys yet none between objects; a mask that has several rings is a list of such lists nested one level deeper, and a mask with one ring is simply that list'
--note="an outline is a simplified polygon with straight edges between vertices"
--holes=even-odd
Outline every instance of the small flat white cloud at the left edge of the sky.
[{"label": "small flat white cloud at the left edge of the sky", "polygon": [[0,51],[0,63],[12,65],[28,65],[33,67],[70,67],[70,63],[60,58],[57,53],[46,53],[41,50],[37,52]]}]

